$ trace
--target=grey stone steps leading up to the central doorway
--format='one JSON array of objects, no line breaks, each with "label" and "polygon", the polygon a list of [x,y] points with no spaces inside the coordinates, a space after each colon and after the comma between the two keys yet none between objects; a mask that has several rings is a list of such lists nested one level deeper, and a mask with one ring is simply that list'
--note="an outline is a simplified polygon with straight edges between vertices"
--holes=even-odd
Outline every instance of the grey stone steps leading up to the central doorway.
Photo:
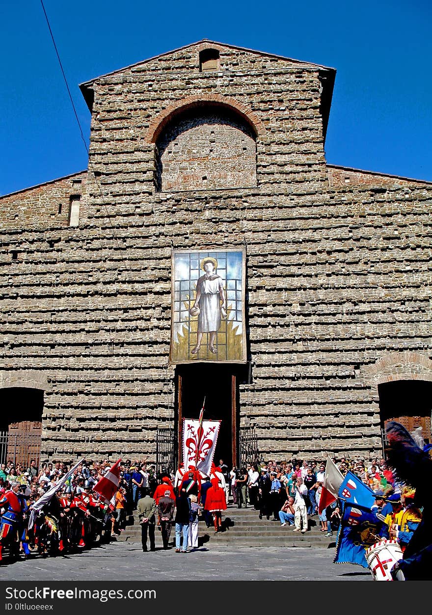
[{"label": "grey stone steps leading up to the central doorway", "polygon": [[[327,537],[326,533],[319,531],[318,515],[309,518],[309,528],[305,534],[294,532],[294,526],[282,527],[279,522],[268,521],[266,517],[261,520],[258,511],[251,508],[238,509],[234,504],[228,504],[222,514],[222,531],[215,533],[213,526],[206,527],[204,520],[199,518],[198,542],[199,546],[209,543],[220,547],[321,547],[328,549],[335,546],[336,534]],[[156,546],[161,543],[159,532],[156,530]],[[171,531],[170,542],[174,539],[174,524]],[[122,531],[118,541],[140,542],[141,528],[138,515],[130,515],[127,519],[126,529]]]}]

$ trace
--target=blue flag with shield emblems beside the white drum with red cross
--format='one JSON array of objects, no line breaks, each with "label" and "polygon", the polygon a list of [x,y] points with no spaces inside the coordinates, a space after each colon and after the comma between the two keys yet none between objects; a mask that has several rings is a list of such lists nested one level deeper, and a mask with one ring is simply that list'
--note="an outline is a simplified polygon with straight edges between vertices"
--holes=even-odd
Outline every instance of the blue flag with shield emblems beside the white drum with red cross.
[{"label": "blue flag with shield emblems beside the white drum with red cross", "polygon": [[386,528],[370,510],[375,502],[374,492],[348,472],[340,485],[339,496],[344,502],[334,563],[367,568],[366,549],[382,539]]}]

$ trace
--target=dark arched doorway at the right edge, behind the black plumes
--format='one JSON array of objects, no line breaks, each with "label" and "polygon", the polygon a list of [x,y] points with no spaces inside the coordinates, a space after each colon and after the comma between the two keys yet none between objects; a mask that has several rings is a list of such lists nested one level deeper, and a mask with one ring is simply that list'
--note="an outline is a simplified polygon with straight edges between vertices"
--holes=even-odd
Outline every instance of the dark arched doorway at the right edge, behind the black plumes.
[{"label": "dark arched doorway at the right edge, behind the black plumes", "polygon": [[432,440],[432,382],[428,380],[393,380],[378,384],[380,424],[383,454],[388,448],[385,427],[388,421],[398,421],[411,432],[422,427],[425,443]]}]

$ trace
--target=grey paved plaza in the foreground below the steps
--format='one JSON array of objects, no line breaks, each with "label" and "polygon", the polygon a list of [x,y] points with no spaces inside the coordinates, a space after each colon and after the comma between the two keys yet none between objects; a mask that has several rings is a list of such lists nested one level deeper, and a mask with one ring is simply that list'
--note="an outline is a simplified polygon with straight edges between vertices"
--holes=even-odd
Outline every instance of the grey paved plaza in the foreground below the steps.
[{"label": "grey paved plaza in the foreground below the steps", "polygon": [[316,547],[204,545],[188,554],[161,547],[143,553],[139,543],[114,542],[82,554],[4,564],[0,577],[2,581],[372,581],[369,570],[334,564],[334,557],[334,548]]}]

